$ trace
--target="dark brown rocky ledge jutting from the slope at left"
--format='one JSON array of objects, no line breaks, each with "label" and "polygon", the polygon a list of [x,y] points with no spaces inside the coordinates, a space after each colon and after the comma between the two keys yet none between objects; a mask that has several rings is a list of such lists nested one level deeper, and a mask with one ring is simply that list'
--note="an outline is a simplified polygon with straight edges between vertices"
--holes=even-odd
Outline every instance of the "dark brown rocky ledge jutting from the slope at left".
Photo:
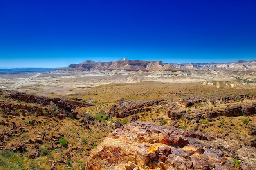
[{"label": "dark brown rocky ledge jutting from the slope at left", "polygon": [[[58,118],[76,118],[78,112],[75,111],[76,107],[89,107],[93,106],[90,103],[63,100],[61,98],[47,98],[37,95],[29,95],[23,92],[6,91],[7,98],[20,100],[26,103],[33,103],[37,105],[27,105],[14,102],[0,101],[0,107],[4,113],[11,113],[18,116],[20,113],[23,115],[37,114],[38,116],[57,116]],[[52,107],[47,108],[44,106]]]}]

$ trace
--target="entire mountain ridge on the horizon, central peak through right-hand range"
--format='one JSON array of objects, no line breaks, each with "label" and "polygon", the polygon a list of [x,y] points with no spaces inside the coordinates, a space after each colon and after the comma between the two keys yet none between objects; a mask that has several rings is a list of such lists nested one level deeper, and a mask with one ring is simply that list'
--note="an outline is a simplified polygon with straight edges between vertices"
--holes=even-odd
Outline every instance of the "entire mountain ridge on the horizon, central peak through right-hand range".
[{"label": "entire mountain ridge on the horizon, central peak through right-hand range", "polygon": [[61,68],[57,70],[69,70],[69,71],[172,71],[177,72],[181,70],[232,70],[232,71],[255,71],[256,60],[245,61],[238,60],[236,62],[227,63],[163,63],[162,61],[151,60],[129,60],[126,58],[118,61],[92,61],[86,60],[79,64],[70,64],[67,68]]}]

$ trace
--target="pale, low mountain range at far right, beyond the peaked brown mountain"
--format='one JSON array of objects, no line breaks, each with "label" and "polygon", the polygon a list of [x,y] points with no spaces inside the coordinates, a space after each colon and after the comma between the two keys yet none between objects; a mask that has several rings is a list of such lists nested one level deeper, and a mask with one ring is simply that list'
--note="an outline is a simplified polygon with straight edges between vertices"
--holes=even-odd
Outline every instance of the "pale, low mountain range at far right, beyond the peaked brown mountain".
[{"label": "pale, low mountain range at far right, beyond the peaked brown mountain", "polygon": [[188,63],[188,64],[176,64],[172,63],[175,68],[181,70],[233,70],[233,71],[248,71],[256,70],[256,60],[244,61],[238,60],[231,63]]}]

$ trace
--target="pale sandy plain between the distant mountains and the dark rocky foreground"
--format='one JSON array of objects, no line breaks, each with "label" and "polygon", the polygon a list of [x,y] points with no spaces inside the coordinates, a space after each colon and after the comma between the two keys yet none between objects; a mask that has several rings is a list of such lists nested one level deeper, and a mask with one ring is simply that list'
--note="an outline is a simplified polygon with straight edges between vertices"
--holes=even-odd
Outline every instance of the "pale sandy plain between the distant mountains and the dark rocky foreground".
[{"label": "pale sandy plain between the distant mountains and the dark rocky foreground", "polygon": [[[204,94],[216,91],[236,91],[237,89],[255,89],[256,83],[247,83],[235,78],[251,80],[255,72],[81,72],[81,73],[12,73],[0,74],[0,88],[57,97],[72,94],[88,94],[97,86],[111,89],[110,93],[126,92],[130,95],[147,93],[165,97],[164,93]],[[125,84],[123,84],[125,83]],[[123,87],[121,87],[122,85]],[[168,87],[168,88],[167,88]],[[98,87],[99,88],[99,87]],[[134,89],[127,91],[129,88]],[[140,89],[141,88],[141,89]],[[140,89],[140,90],[139,90]],[[105,90],[106,91],[106,90]],[[138,91],[138,92],[135,92]],[[162,92],[162,93],[160,93]],[[176,94],[176,95],[177,95]],[[120,94],[121,96],[121,94]],[[118,96],[116,96],[118,97]]]}]

